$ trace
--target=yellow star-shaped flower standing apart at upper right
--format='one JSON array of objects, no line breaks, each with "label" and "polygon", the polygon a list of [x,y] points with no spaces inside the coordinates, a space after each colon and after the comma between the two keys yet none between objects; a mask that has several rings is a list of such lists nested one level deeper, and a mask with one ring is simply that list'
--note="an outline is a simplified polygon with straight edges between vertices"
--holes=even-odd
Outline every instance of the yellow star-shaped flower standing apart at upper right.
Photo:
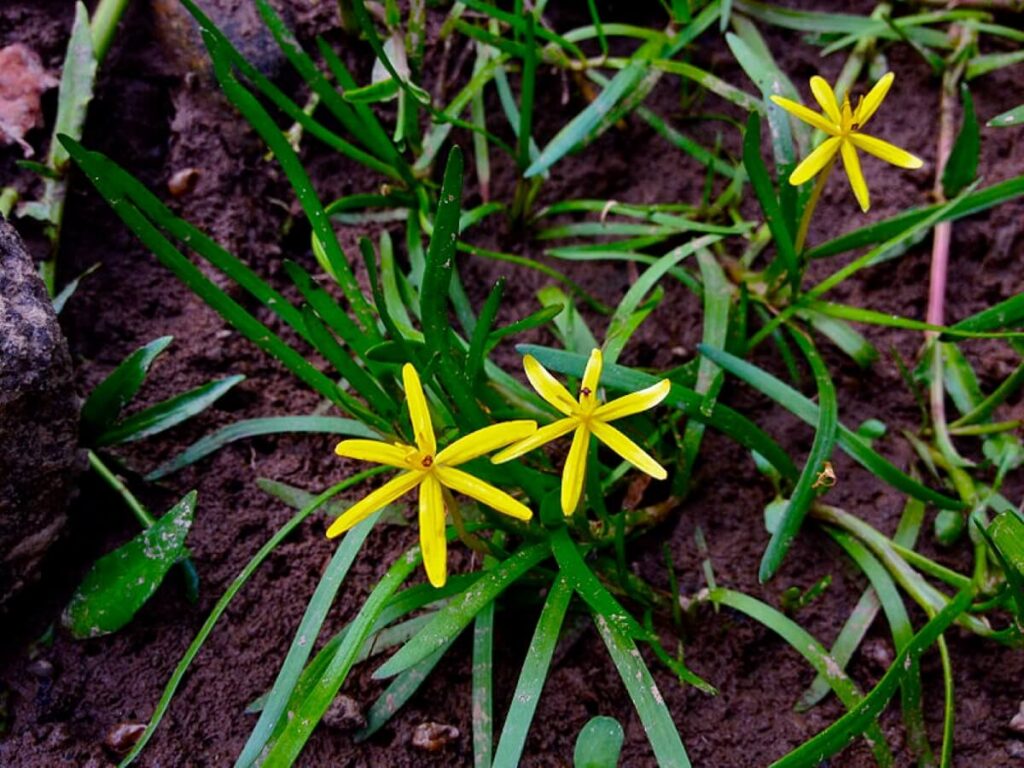
[{"label": "yellow star-shaped flower standing apart at upper right", "polygon": [[841,108],[831,87],[824,78],[817,75],[811,78],[811,93],[821,106],[820,115],[788,98],[771,97],[772,101],[790,114],[828,134],[828,138],[808,155],[790,175],[791,184],[799,186],[814,178],[822,168],[834,161],[838,153],[843,158],[843,167],[846,168],[853,194],[860,203],[861,210],[866,212],[871,207],[871,202],[867,194],[867,182],[864,181],[864,174],[860,170],[857,150],[863,150],[900,168],[921,168],[924,165],[921,158],[881,138],[861,133],[861,129],[882,104],[895,77],[893,73],[887,73],[867,95],[860,99],[856,110],[851,109],[849,96],[843,97]]}]

